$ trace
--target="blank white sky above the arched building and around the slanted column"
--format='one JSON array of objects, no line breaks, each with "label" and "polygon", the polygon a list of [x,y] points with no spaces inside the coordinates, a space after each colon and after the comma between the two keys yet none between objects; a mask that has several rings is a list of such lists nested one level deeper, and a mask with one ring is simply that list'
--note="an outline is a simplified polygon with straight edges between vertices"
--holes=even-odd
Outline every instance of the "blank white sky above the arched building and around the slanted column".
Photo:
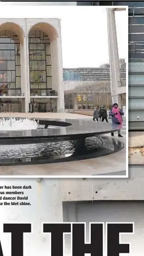
[{"label": "blank white sky above the arched building and around the slanted column", "polygon": [[[64,68],[99,67],[103,63],[109,63],[106,8],[98,6],[13,6],[11,11],[11,6],[4,6],[4,4],[1,3],[0,18],[61,19]],[[119,57],[127,59],[128,11],[116,12],[116,27]]]}]

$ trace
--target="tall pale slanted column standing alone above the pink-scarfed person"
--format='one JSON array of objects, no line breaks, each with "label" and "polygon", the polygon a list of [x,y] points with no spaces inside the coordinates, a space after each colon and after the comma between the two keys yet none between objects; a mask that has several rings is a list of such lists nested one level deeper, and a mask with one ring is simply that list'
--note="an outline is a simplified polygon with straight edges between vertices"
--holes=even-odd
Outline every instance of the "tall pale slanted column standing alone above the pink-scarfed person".
[{"label": "tall pale slanted column standing alone above the pink-scarfed person", "polygon": [[109,60],[110,60],[110,80],[112,103],[121,105],[120,98],[117,94],[117,88],[121,86],[120,64],[118,57],[117,35],[115,24],[114,9],[107,9],[108,17],[108,42],[109,42]]}]

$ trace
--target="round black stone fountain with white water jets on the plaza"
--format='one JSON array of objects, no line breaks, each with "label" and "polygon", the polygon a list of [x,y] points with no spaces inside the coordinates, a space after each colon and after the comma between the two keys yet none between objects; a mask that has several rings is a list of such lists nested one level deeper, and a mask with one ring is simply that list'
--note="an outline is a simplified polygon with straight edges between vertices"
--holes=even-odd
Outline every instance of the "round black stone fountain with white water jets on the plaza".
[{"label": "round black stone fountain with white water jets on the plaza", "polygon": [[0,119],[0,165],[41,164],[96,158],[123,148],[104,134],[120,129],[92,120]]}]

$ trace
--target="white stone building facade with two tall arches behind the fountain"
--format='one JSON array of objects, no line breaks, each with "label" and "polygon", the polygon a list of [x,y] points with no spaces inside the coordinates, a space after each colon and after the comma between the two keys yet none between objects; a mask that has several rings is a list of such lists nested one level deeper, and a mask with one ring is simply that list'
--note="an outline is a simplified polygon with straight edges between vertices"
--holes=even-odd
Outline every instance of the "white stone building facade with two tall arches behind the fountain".
[{"label": "white stone building facade with two tall arches behind the fountain", "polygon": [[62,112],[59,19],[0,20],[1,112]]}]

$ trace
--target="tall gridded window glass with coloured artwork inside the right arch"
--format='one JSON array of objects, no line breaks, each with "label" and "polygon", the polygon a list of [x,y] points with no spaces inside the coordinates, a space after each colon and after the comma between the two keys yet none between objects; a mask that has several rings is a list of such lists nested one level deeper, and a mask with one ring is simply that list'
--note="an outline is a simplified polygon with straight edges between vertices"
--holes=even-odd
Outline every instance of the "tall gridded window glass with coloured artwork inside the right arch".
[{"label": "tall gridded window glass with coloured artwork inside the right arch", "polygon": [[29,33],[30,93],[48,95],[52,90],[51,45],[46,33]]}]

